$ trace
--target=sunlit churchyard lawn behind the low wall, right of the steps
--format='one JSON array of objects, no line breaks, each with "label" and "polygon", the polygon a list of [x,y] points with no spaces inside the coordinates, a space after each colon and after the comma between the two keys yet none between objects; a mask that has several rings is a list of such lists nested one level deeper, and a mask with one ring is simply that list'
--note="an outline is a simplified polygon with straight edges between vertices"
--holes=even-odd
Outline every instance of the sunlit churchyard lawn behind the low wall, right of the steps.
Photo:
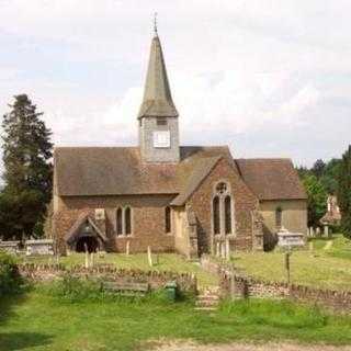
[{"label": "sunlit churchyard lawn behind the low wall, right of the steps", "polygon": [[[314,250],[294,251],[291,257],[293,283],[320,288],[351,291],[351,242],[342,236],[333,236],[332,245],[326,249],[328,239],[314,239]],[[267,281],[286,281],[284,253],[252,252],[236,253],[235,265],[249,275]]]}]

